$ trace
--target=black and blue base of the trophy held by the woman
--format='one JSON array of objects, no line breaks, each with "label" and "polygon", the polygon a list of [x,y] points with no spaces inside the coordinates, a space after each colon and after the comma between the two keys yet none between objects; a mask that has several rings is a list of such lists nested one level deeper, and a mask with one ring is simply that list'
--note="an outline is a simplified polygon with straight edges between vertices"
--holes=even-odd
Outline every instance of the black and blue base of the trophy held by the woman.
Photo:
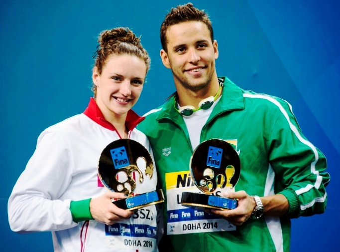
[{"label": "black and blue base of the trophy held by the woman", "polygon": [[159,189],[158,191],[148,192],[132,196],[127,199],[113,201],[113,204],[118,208],[131,211],[162,202],[164,202],[164,195],[162,189]]}]

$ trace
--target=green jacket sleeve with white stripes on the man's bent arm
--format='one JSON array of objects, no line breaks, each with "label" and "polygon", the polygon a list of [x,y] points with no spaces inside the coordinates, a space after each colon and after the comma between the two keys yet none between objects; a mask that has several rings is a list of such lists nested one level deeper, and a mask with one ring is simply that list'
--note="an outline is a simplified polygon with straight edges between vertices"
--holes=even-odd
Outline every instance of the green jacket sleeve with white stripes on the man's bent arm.
[{"label": "green jacket sleeve with white stripes on the man's bent arm", "polygon": [[278,100],[270,126],[270,164],[279,188],[289,202],[287,216],[297,218],[323,213],[326,209],[326,186],[330,175],[325,172],[324,154],[302,134],[290,104]]}]

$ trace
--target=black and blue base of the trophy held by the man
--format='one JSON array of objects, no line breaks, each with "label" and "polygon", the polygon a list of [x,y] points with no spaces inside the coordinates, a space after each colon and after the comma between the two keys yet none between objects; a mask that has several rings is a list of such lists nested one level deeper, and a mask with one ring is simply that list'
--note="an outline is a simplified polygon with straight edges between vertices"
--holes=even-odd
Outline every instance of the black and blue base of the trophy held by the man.
[{"label": "black and blue base of the trophy held by the man", "polygon": [[218,210],[235,209],[237,200],[223,198],[215,195],[199,194],[199,193],[182,193],[182,206],[192,207],[196,209],[213,208]]}]

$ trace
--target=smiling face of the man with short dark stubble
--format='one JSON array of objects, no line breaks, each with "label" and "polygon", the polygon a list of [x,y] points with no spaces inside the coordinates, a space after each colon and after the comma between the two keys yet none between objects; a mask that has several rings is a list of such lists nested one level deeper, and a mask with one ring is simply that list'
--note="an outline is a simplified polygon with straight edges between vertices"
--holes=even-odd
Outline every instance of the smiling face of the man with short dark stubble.
[{"label": "smiling face of the man with short dark stubble", "polygon": [[163,64],[172,70],[176,88],[198,91],[210,84],[215,74],[217,41],[211,41],[207,25],[187,21],[169,26],[167,50],[161,50]]}]

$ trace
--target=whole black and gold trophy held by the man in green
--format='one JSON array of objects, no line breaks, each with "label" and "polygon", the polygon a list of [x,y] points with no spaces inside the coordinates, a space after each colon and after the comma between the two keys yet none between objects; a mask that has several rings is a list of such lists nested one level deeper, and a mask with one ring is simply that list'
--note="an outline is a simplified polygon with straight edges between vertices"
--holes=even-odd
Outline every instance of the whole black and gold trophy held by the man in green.
[{"label": "whole black and gold trophy held by the man in green", "polygon": [[190,172],[202,193],[184,192],[181,203],[186,207],[219,210],[235,209],[237,200],[215,196],[218,188],[233,188],[240,176],[240,161],[234,148],[224,140],[202,142],[190,159]]}]

